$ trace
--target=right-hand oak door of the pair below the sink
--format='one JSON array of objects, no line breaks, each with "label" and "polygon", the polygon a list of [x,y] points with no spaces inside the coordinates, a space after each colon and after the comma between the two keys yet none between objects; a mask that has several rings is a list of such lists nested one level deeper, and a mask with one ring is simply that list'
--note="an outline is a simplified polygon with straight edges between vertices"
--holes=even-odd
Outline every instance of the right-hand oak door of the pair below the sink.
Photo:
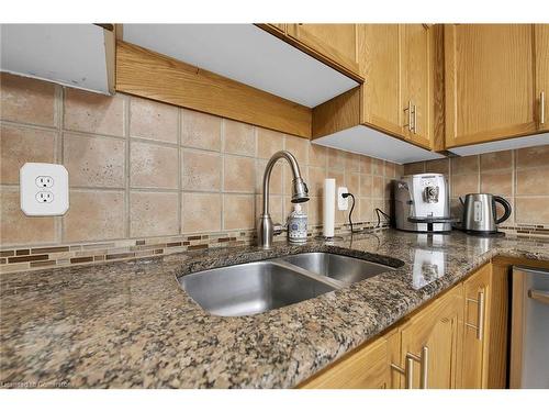
[{"label": "right-hand oak door of the pair below the sink", "polygon": [[457,366],[461,359],[462,301],[460,283],[413,315],[402,327],[400,364],[405,365],[406,357],[415,358],[412,363],[413,389],[456,388]]}]

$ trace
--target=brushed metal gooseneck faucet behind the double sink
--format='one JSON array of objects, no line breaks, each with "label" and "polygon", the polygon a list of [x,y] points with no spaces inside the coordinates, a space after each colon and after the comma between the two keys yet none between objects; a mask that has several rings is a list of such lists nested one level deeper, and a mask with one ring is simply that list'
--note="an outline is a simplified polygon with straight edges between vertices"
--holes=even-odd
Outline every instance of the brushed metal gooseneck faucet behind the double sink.
[{"label": "brushed metal gooseneck faucet behind the double sink", "polygon": [[278,159],[284,158],[290,164],[292,169],[293,180],[292,180],[292,202],[300,203],[306,202],[309,200],[309,189],[306,183],[301,177],[300,166],[295,157],[288,151],[280,151],[272,155],[272,157],[267,163],[264,174],[264,212],[259,216],[259,222],[257,225],[257,238],[259,246],[264,248],[270,248],[272,244],[272,236],[274,235],[274,225],[269,214],[269,182],[271,178],[272,168]]}]

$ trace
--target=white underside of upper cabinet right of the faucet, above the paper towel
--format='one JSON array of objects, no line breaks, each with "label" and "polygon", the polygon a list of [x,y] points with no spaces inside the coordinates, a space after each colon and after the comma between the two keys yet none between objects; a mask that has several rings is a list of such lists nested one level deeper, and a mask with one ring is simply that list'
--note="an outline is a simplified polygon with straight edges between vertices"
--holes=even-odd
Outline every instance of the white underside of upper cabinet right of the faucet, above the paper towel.
[{"label": "white underside of upper cabinet right of the faucet, above the paper towel", "polygon": [[401,165],[444,157],[438,153],[426,151],[411,143],[403,142],[362,125],[316,138],[313,143],[390,160]]}]

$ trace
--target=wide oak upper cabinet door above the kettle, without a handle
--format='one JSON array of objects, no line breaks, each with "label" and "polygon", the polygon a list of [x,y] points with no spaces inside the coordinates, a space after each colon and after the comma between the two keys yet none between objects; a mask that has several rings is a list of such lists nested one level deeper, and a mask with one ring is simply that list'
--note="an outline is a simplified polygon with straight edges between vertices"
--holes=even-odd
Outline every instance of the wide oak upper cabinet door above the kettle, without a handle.
[{"label": "wide oak upper cabinet door above the kettle, without a handle", "polygon": [[531,134],[531,24],[445,26],[447,147]]}]

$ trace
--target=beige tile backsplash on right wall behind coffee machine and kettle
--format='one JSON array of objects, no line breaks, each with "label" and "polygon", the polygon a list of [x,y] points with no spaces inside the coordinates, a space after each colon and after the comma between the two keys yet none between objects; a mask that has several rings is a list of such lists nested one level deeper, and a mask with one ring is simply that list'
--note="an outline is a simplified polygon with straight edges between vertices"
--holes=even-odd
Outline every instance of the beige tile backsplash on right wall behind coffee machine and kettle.
[{"label": "beige tile backsplash on right wall behind coffee machine and kettle", "polygon": [[504,226],[549,225],[549,145],[404,165],[405,174],[424,171],[448,177],[455,214],[458,197],[480,191],[509,201],[513,213]]}]

